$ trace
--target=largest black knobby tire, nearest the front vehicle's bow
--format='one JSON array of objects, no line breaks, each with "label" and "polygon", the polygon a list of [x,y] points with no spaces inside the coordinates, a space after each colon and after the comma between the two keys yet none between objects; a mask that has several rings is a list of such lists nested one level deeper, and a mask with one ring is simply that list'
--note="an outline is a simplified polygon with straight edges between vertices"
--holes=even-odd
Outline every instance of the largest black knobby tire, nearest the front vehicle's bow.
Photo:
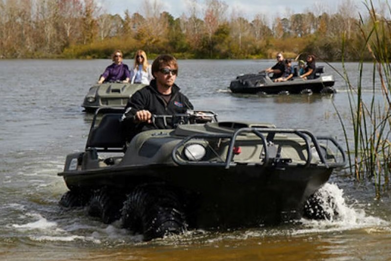
[{"label": "largest black knobby tire, nearest the front vehicle's bow", "polygon": [[139,186],[134,189],[122,209],[125,228],[144,235],[144,240],[180,234],[187,224],[177,196],[160,186]]}]

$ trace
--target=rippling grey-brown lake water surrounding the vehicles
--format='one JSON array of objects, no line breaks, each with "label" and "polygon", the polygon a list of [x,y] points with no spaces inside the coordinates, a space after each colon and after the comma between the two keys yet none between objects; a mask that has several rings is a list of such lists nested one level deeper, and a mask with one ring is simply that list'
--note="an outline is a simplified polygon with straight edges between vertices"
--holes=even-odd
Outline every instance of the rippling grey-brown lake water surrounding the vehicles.
[{"label": "rippling grey-brown lake water surrounding the vehicles", "polygon": [[[105,225],[85,209],[58,205],[66,192],[58,172],[68,153],[84,149],[91,114],[81,103],[109,60],[0,60],[0,259],[19,260],[390,260],[391,202],[374,199],[373,186],[336,172],[325,193],[336,198],[341,218],[215,233],[190,231],[142,242],[119,222]],[[132,61],[125,60],[131,65]],[[336,137],[343,131],[333,103],[349,120],[344,81],[334,96],[233,95],[230,81],[273,65],[261,60],[181,60],[176,83],[196,109],[219,120],[251,120],[309,129]],[[322,63],[318,63],[322,65]],[[331,64],[341,69],[339,63]],[[347,64],[352,83],[355,63]],[[371,88],[371,65],[363,83]],[[369,97],[369,95],[368,95]],[[351,132],[351,131],[349,131]]]}]

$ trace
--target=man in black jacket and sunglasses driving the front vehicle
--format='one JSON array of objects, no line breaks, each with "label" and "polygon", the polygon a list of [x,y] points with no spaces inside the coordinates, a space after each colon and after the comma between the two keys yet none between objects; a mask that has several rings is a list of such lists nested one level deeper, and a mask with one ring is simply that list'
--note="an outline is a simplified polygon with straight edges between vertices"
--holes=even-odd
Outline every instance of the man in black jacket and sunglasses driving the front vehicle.
[{"label": "man in black jacket and sunglasses driving the front vehicle", "polygon": [[151,129],[173,128],[173,122],[168,119],[167,125],[163,119],[156,119],[152,124],[152,114],[174,115],[194,109],[189,99],[180,92],[174,84],[178,75],[178,64],[174,56],[160,55],[152,63],[154,79],[149,86],[136,91],[128,101],[122,120],[133,135],[140,131]]}]

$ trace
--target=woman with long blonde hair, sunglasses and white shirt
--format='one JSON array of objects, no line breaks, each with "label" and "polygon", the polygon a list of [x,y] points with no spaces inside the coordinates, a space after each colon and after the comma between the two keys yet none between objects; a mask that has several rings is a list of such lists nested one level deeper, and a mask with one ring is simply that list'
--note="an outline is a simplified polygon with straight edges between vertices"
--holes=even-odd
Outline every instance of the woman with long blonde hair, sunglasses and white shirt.
[{"label": "woman with long blonde hair, sunglasses and white shirt", "polygon": [[143,50],[138,50],[134,54],[134,66],[130,71],[131,84],[149,85],[152,76],[151,65],[148,63],[147,54]]}]

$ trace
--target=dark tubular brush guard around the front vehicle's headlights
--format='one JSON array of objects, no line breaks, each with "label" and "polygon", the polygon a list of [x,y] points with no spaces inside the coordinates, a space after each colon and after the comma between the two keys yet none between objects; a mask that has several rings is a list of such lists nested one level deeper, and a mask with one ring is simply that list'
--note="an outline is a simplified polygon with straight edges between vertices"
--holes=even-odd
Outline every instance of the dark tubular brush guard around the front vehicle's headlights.
[{"label": "dark tubular brush guard around the front vehicle's headlights", "polygon": [[[230,143],[229,143],[228,153],[227,153],[225,162],[207,162],[207,164],[211,165],[211,166],[224,166],[225,169],[229,169],[230,166],[236,166],[237,165],[235,162],[232,162],[232,159],[234,157],[233,150],[234,150],[235,141],[236,141],[238,135],[240,133],[243,133],[243,132],[253,132],[258,137],[261,138],[262,145],[263,145],[263,150],[264,150],[264,153],[265,153],[265,158],[264,158],[263,164],[262,164],[262,166],[264,166],[264,167],[266,167],[266,166],[268,166],[270,164],[270,152],[269,152],[269,149],[268,149],[268,146],[267,146],[268,140],[267,140],[267,138],[264,137],[264,135],[261,132],[263,132],[263,133],[266,132],[268,134],[273,134],[273,135],[275,133],[293,133],[293,134],[296,134],[297,136],[301,137],[305,141],[305,148],[306,148],[307,155],[308,155],[306,162],[304,164],[300,164],[299,165],[301,167],[304,167],[304,168],[308,167],[310,165],[310,163],[311,163],[311,160],[312,160],[311,145],[310,145],[311,141],[312,141],[313,145],[315,146],[316,151],[318,152],[318,155],[319,155],[319,158],[320,158],[321,162],[326,166],[326,168],[343,167],[347,163],[347,157],[346,157],[346,154],[345,154],[344,150],[338,144],[338,142],[334,138],[332,138],[330,136],[315,137],[311,132],[309,132],[307,130],[270,129],[270,128],[241,128],[241,129],[238,129],[237,131],[235,131],[232,134],[230,134],[230,133],[217,133],[217,134],[214,134],[214,133],[196,133],[196,134],[193,134],[193,135],[187,137],[186,139],[182,140],[181,142],[179,142],[174,147],[174,150],[172,152],[173,160],[178,165],[205,165],[205,161],[188,161],[188,160],[183,160],[182,158],[179,158],[178,157],[178,155],[179,155],[179,152],[178,152],[179,148],[181,146],[183,146],[189,140],[195,139],[195,138],[228,138],[228,139],[230,139]],[[327,163],[326,159],[325,159],[325,156],[321,152],[321,148],[320,148],[320,145],[318,143],[318,139],[331,141],[335,145],[335,147],[338,149],[338,151],[341,152],[342,157],[343,157],[343,162],[341,162],[341,163],[338,163],[338,162],[336,162],[336,163]]]}]

